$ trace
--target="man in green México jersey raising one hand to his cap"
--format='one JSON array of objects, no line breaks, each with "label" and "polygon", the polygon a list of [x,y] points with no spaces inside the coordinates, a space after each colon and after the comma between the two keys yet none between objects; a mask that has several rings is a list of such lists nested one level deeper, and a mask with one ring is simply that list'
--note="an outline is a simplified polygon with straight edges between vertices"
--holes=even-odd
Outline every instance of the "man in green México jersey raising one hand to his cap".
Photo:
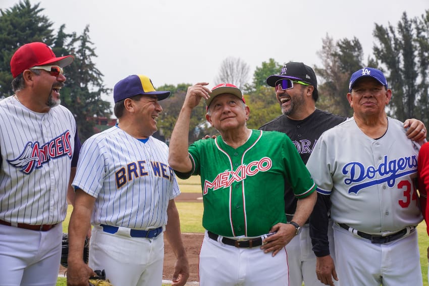
[{"label": "man in green M\u00e9xico jersey raising one hand to his cap", "polygon": [[[315,185],[295,146],[280,132],[251,130],[240,89],[208,83],[188,88],[170,140],[169,164],[178,177],[201,176],[206,229],[200,285],[288,285],[285,245],[300,232],[315,200]],[[206,119],[221,136],[188,147],[192,109],[207,104]],[[298,198],[287,224],[285,179]]]}]

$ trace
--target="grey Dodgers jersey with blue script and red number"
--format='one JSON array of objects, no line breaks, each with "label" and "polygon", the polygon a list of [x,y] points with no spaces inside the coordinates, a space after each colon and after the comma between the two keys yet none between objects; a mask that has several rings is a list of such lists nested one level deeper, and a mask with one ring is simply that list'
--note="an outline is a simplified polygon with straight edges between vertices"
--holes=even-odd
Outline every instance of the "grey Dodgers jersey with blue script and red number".
[{"label": "grey Dodgers jersey with blue script and red number", "polygon": [[420,145],[398,120],[388,124],[375,140],[352,118],[317,141],[307,167],[317,192],[330,196],[334,222],[380,235],[422,220],[415,186]]}]

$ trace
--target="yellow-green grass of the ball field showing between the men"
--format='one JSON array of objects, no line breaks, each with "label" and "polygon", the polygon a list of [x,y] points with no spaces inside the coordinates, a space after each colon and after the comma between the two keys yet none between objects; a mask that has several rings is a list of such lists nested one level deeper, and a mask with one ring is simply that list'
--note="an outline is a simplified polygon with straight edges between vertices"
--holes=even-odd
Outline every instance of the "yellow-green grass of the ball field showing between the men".
[{"label": "yellow-green grass of the ball field showing between the men", "polygon": [[[198,176],[192,176],[188,180],[178,180],[180,190],[183,193],[199,193],[200,189],[200,178]],[[201,225],[203,206],[200,202],[176,202],[177,209],[180,215],[180,228],[182,233],[203,233],[204,229]],[[68,232],[69,219],[72,211],[72,207],[69,206],[67,211],[66,220],[63,222],[63,232]],[[429,286],[427,281],[427,255],[426,249],[429,246],[429,237],[426,234],[426,224],[421,222],[418,227],[418,244],[420,250],[420,264],[421,272],[423,275],[423,285]],[[57,286],[66,286],[66,278],[59,277]],[[164,286],[164,285],[163,285]],[[410,285],[411,286],[411,285]]]}]

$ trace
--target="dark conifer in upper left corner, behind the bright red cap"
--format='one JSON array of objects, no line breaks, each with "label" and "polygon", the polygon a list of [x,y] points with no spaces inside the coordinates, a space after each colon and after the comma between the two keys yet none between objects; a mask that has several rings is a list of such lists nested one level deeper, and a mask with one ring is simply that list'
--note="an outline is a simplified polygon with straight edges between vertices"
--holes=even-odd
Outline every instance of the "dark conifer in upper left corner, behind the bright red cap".
[{"label": "dark conifer in upper left corner, behind the bright red cap", "polygon": [[18,47],[34,41],[53,43],[52,23],[40,14],[43,9],[39,6],[23,0],[10,9],[0,9],[0,98],[13,94],[10,61]]}]

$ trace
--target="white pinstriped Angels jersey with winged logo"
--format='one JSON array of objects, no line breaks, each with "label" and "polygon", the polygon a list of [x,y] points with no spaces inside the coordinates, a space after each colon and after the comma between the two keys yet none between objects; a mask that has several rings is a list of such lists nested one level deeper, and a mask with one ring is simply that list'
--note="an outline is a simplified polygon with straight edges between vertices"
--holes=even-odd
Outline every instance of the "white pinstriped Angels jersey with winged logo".
[{"label": "white pinstriped Angels jersey with winged logo", "polygon": [[76,166],[79,147],[76,122],[66,107],[38,113],[13,96],[0,101],[0,219],[63,221],[70,168]]}]

